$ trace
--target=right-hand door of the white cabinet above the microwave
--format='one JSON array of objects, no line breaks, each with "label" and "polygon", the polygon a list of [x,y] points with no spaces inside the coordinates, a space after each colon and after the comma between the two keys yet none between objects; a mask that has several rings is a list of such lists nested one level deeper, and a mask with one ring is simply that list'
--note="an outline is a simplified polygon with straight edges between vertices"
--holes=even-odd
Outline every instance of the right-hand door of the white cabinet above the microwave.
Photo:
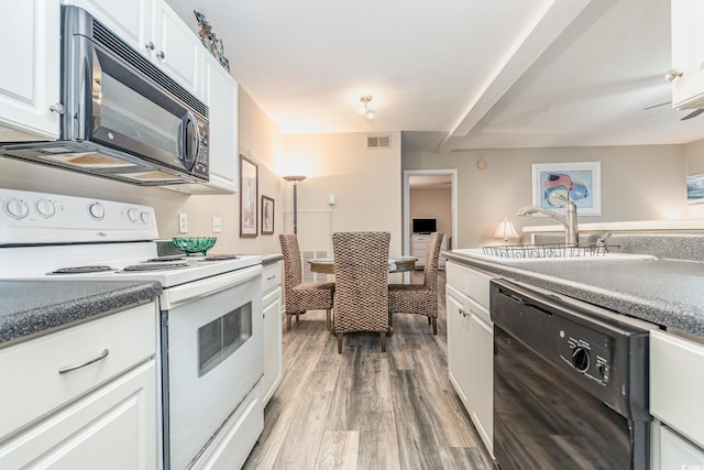
[{"label": "right-hand door of the white cabinet above the microwave", "polygon": [[[194,20],[195,21],[195,20]],[[196,33],[163,0],[154,7],[154,62],[169,77],[202,99],[202,54]]]}]

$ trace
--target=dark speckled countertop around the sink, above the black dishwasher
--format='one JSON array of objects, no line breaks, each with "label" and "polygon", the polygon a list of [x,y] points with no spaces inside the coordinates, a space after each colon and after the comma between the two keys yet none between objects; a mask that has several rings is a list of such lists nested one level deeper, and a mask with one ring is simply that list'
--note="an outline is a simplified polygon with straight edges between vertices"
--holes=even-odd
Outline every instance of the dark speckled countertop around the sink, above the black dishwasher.
[{"label": "dark speckled countertop around the sink, above the black dishwasher", "polygon": [[704,263],[674,260],[509,264],[451,251],[452,261],[704,339]]}]

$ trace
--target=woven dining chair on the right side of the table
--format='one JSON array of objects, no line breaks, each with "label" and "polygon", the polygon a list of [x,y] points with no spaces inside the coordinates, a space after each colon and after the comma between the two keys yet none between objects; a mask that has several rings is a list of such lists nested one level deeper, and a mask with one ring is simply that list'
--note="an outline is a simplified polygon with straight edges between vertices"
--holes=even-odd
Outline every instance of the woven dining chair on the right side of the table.
[{"label": "woven dining chair on the right side of the table", "polygon": [[442,237],[442,232],[430,236],[422,284],[388,285],[389,324],[394,321],[394,314],[425,315],[428,317],[428,324],[432,324],[432,334],[438,334],[438,259]]}]

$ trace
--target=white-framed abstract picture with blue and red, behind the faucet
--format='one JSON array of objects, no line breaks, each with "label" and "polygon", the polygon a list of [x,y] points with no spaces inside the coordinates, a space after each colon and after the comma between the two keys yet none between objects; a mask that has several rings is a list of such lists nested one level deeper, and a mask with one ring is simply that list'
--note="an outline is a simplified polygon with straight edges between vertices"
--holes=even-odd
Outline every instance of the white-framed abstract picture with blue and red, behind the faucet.
[{"label": "white-framed abstract picture with blue and red, behind the faucet", "polygon": [[569,198],[579,216],[601,216],[601,162],[534,164],[532,205],[563,214]]}]

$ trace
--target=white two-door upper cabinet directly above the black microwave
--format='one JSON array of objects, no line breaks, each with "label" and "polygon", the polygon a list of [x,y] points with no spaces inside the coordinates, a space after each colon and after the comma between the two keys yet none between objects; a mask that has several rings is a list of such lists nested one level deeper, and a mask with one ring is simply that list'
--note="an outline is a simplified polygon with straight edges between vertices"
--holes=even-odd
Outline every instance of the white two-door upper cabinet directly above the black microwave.
[{"label": "white two-door upper cabinet directly above the black microwave", "polygon": [[205,47],[164,0],[64,0],[64,3],[90,12],[166,75],[202,99]]}]

